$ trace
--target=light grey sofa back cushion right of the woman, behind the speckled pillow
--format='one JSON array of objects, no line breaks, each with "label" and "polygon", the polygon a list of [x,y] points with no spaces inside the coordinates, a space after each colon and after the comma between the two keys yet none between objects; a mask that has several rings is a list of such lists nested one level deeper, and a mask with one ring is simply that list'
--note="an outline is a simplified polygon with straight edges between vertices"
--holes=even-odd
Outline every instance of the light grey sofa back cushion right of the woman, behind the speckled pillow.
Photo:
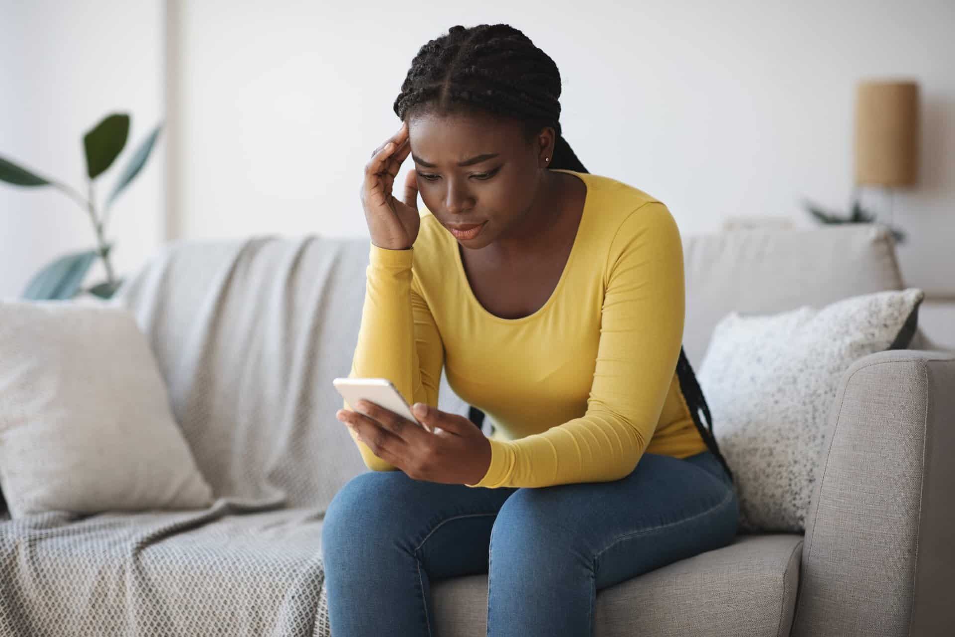
[{"label": "light grey sofa back cushion right of the woman, behind the speckled pillow", "polygon": [[684,238],[684,348],[694,368],[726,314],[821,307],[902,289],[891,233],[854,223],[805,230],[734,230]]}]

